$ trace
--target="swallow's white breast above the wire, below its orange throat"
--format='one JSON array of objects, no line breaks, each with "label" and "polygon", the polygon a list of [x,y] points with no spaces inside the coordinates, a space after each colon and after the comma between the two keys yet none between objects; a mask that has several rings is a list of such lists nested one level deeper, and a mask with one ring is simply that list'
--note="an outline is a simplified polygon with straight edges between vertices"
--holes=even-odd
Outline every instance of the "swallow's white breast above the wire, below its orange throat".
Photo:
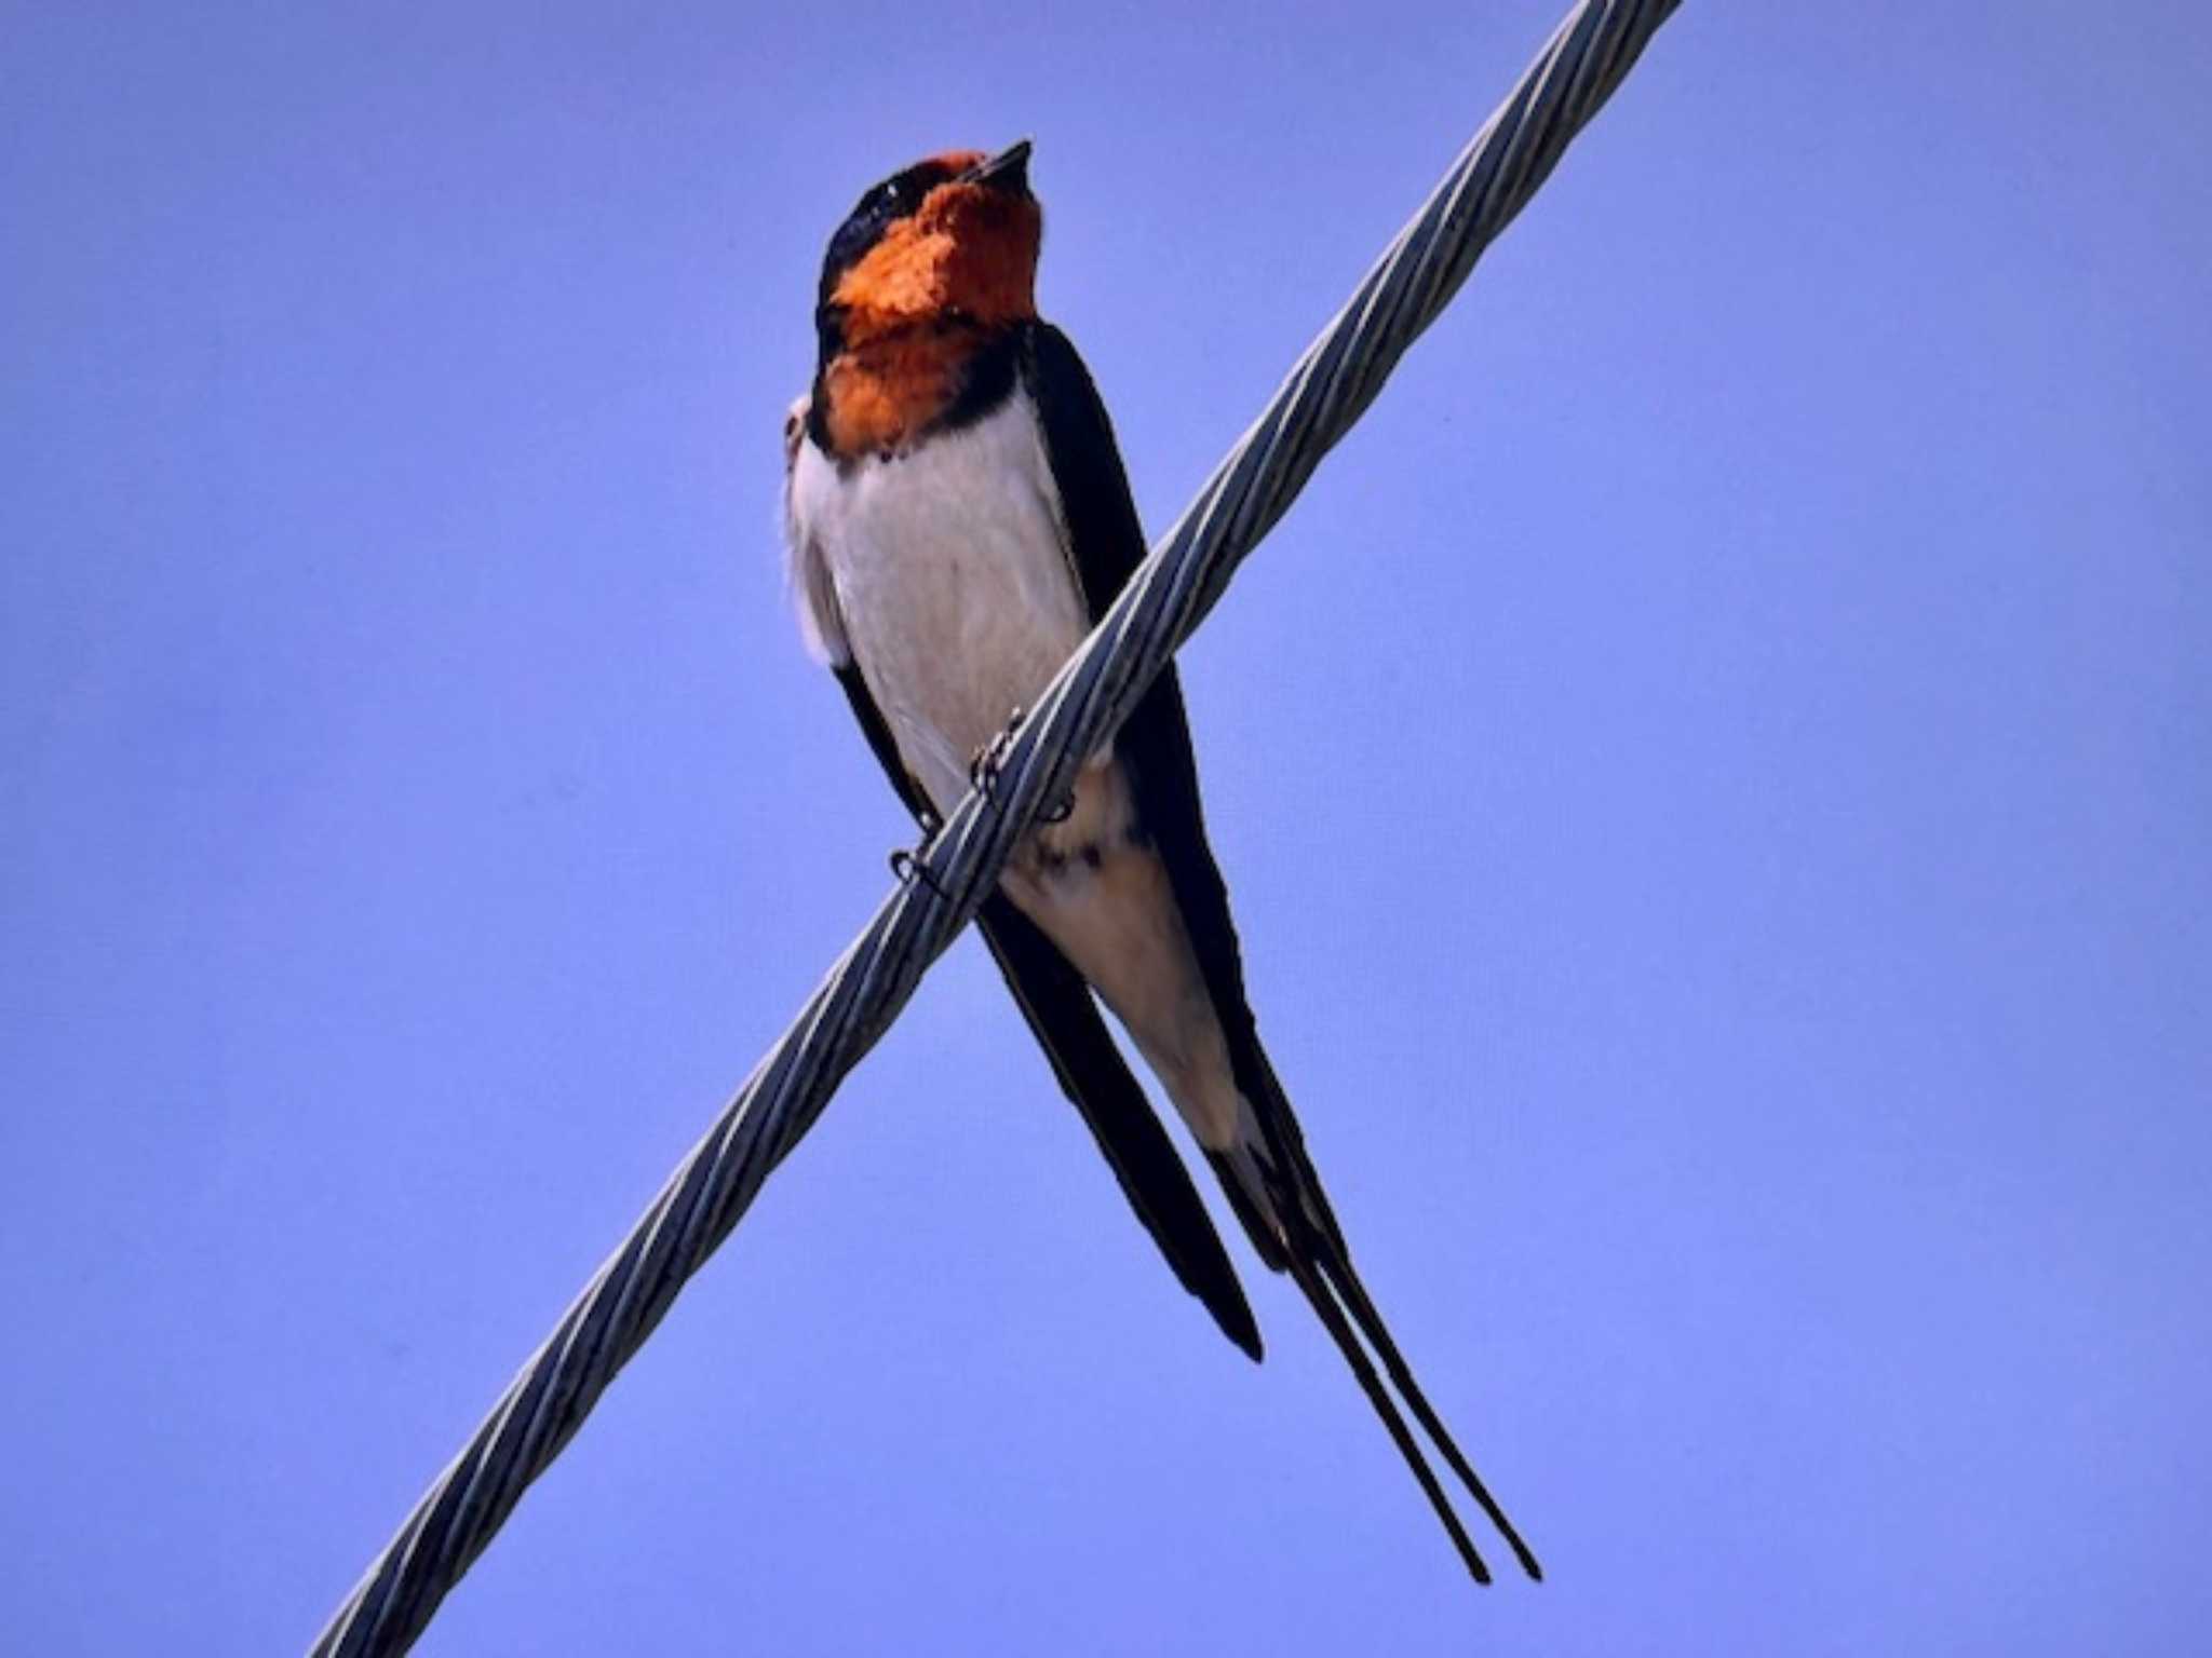
[{"label": "swallow's white breast above the wire, below its orange throat", "polygon": [[860,665],[907,769],[949,809],[975,749],[1091,630],[1035,407],[1015,389],[971,427],[845,473],[801,444],[790,520],[814,634]]}]

